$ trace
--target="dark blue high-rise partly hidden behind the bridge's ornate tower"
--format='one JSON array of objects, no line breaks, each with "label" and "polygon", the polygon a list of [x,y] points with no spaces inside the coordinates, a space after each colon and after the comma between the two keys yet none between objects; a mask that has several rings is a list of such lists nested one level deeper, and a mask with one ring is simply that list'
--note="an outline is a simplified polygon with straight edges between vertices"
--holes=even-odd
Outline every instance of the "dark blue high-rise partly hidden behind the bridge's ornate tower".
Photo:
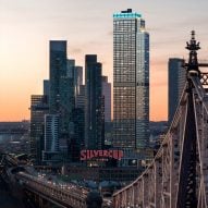
[{"label": "dark blue high-rise partly hidden behind the bridge's ornate tower", "polygon": [[186,71],[183,68],[184,59],[169,59],[169,124],[172,122],[182,91],[185,87]]}]

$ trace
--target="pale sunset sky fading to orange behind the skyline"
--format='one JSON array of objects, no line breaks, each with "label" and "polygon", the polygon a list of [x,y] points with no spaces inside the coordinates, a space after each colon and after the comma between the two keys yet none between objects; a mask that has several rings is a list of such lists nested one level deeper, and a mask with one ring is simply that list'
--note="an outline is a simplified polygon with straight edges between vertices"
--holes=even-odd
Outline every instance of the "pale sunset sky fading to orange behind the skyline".
[{"label": "pale sunset sky fading to orange behind the skyline", "polygon": [[167,120],[168,59],[187,59],[193,29],[207,59],[207,0],[0,0],[0,121],[29,119],[30,95],[41,95],[49,77],[51,39],[68,40],[76,65],[98,54],[112,83],[112,14],[129,8],[150,35],[150,120]]}]

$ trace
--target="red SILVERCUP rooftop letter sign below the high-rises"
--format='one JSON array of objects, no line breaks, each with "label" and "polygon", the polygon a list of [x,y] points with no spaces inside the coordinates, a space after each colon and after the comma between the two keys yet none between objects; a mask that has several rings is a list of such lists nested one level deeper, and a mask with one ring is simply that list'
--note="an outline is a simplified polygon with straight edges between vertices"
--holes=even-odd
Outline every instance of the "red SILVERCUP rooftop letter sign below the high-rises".
[{"label": "red SILVERCUP rooftop letter sign below the high-rises", "polygon": [[123,157],[122,150],[89,150],[85,149],[81,151],[81,160],[90,160],[93,158],[113,158],[121,160]]}]

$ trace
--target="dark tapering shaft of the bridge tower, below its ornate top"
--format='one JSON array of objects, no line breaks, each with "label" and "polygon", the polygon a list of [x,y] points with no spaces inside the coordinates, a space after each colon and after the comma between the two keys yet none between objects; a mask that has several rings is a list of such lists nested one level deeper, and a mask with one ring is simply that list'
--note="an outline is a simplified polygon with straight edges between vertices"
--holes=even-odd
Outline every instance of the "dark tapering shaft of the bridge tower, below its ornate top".
[{"label": "dark tapering shaft of the bridge tower, below its ornate top", "polygon": [[[189,84],[191,85],[191,84]],[[187,98],[187,118],[185,123],[185,135],[183,139],[180,180],[178,191],[176,208],[196,208],[196,119],[193,100],[193,89],[189,86]]]}]

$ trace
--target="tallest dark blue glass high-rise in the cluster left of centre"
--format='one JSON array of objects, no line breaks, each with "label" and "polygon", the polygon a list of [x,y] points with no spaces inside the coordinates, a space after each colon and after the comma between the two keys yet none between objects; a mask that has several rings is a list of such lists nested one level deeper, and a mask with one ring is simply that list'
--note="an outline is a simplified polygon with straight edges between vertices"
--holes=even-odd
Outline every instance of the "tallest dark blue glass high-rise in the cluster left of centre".
[{"label": "tallest dark blue glass high-rise in the cluster left of centre", "polygon": [[70,76],[66,60],[66,41],[50,41],[50,96],[51,114],[60,115],[60,136],[69,135],[69,124],[74,108],[74,79]]}]

